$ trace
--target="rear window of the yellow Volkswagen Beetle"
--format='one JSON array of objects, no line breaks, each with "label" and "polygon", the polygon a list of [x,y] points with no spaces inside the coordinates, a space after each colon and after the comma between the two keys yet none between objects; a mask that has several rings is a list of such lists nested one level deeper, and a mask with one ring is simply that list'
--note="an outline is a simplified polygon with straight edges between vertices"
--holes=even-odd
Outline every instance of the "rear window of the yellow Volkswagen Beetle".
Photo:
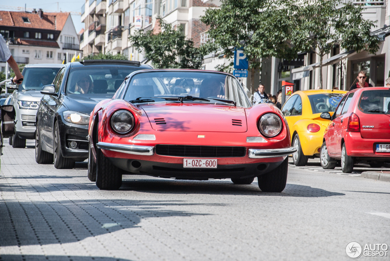
[{"label": "rear window of the yellow Volkswagen Beetle", "polygon": [[321,93],[308,95],[313,114],[335,111],[343,96],[344,93]]}]

